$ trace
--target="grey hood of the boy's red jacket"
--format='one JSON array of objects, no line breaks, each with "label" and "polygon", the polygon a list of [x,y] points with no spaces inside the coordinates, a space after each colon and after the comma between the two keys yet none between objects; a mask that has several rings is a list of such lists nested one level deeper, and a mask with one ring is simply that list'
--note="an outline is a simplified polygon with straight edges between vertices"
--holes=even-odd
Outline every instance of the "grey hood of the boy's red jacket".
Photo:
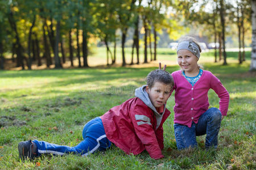
[{"label": "grey hood of the boy's red jacket", "polygon": [[[146,87],[147,85],[143,85],[142,87],[137,88],[135,90],[135,96],[141,99],[144,104],[146,104],[150,109],[152,109],[156,117],[162,117],[163,115],[159,114],[158,111],[156,111],[154,105],[151,103],[148,93],[146,92]],[[164,104],[164,112],[165,110],[166,110],[166,104]]]}]

